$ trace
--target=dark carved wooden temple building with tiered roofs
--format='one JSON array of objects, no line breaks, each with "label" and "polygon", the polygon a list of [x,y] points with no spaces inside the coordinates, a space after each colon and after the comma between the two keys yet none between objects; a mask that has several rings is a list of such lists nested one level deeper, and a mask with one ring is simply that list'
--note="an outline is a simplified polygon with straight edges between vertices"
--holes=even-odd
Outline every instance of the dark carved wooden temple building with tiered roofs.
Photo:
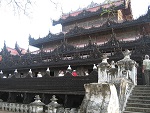
[{"label": "dark carved wooden temple building with tiered roofs", "polygon": [[39,39],[29,36],[29,44],[39,51],[24,51],[16,44],[17,54],[11,54],[4,43],[0,53],[3,101],[28,104],[39,94],[48,104],[55,94],[63,106],[77,108],[85,94],[84,84],[98,82],[93,66],[102,61],[104,53],[108,62],[123,59],[126,49],[139,65],[137,84],[143,84],[142,60],[145,54],[150,55],[150,8],[134,20],[130,0],[91,2],[82,10],[63,14],[53,21],[57,24],[62,25],[59,34],[49,32]]}]

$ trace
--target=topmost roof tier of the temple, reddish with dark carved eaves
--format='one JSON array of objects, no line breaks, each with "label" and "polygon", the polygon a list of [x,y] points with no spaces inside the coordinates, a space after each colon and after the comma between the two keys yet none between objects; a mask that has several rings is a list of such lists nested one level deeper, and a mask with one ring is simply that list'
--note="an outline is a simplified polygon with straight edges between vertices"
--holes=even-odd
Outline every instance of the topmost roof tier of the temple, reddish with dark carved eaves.
[{"label": "topmost roof tier of the temple, reddish with dark carved eaves", "polygon": [[91,18],[97,15],[100,15],[103,13],[103,9],[108,9],[112,6],[114,6],[114,10],[121,10],[127,8],[130,3],[130,0],[115,0],[111,2],[110,4],[101,4],[97,5],[93,2],[91,3],[91,7],[87,7],[87,9],[82,9],[80,11],[71,12],[69,14],[64,14],[58,21],[53,21],[53,25],[56,24],[66,24],[73,21],[85,19],[85,18]]}]

